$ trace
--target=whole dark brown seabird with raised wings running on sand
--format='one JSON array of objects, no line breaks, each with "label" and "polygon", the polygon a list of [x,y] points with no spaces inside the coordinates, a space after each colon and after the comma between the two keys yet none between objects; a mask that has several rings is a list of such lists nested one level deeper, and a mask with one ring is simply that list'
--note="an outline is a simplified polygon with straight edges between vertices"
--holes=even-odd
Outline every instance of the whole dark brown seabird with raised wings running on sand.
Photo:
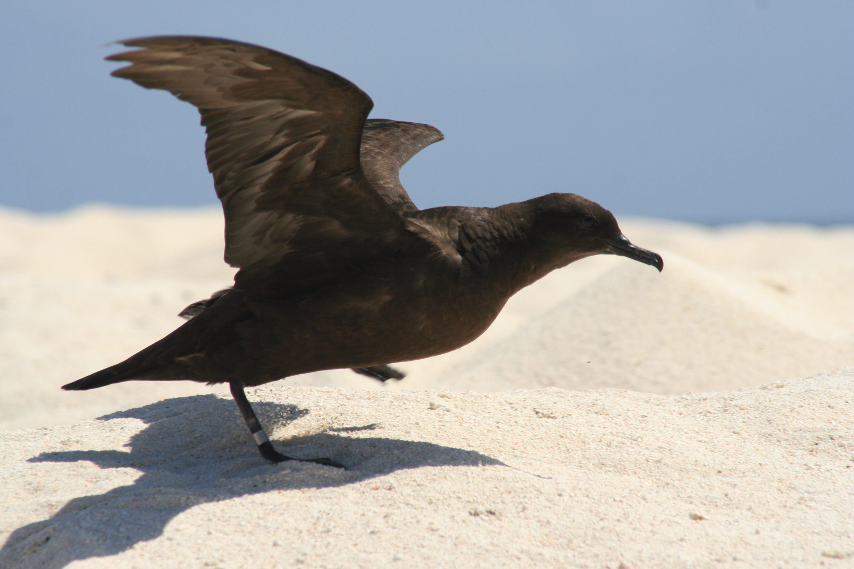
[{"label": "whole dark brown seabird with raised wings running on sand", "polygon": [[324,369],[400,378],[392,363],[452,351],[489,327],[523,287],[579,259],[651,265],[614,216],[580,195],[497,207],[418,209],[401,166],[442,132],[368,119],[371,97],[290,55],[224,38],[117,42],[112,75],[189,102],[225,215],[232,287],[188,306],[180,327],[125,361],[62,386],[128,380],[227,383],[260,455],[278,452],[245,388]]}]

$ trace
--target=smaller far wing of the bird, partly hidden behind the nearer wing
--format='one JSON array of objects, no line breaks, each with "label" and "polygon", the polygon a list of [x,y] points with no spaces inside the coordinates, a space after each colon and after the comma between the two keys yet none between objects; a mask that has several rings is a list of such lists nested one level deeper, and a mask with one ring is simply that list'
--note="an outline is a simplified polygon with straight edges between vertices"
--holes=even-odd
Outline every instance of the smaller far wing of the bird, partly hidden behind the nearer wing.
[{"label": "smaller far wing of the bird, partly hidden behind the nearer wing", "polygon": [[403,189],[399,172],[415,154],[445,135],[435,126],[398,120],[368,119],[362,131],[362,171],[374,189],[401,215],[418,207]]}]

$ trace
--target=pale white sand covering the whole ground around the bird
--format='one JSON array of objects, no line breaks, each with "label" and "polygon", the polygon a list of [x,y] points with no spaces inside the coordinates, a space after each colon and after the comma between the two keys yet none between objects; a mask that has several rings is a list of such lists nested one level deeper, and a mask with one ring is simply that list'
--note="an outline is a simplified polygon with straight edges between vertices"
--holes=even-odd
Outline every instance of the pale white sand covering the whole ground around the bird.
[{"label": "pale white sand covering the whole ground around the bird", "polygon": [[0,211],[0,567],[854,563],[854,369],[793,379],[854,364],[854,229],[625,220],[660,276],[586,259],[396,385],[250,394],[340,472],[219,388],[59,391],[229,284],[220,216]]}]

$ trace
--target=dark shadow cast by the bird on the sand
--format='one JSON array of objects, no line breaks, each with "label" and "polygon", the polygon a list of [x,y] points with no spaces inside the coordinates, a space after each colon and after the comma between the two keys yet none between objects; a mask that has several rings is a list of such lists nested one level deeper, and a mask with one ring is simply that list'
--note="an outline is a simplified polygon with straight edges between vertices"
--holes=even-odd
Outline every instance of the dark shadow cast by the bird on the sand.
[{"label": "dark shadow cast by the bird on the sand", "polygon": [[[281,427],[309,413],[293,405],[253,406],[267,426]],[[129,450],[44,452],[29,459],[88,461],[101,468],[134,468],[141,475],[130,485],[73,498],[50,519],[13,531],[0,550],[0,567],[54,569],[73,560],[119,554],[160,536],[174,516],[207,502],[354,484],[404,468],[506,466],[472,450],[369,436],[381,433],[377,425],[273,441],[287,455],[329,457],[346,465],[346,471],[307,462],[271,465],[255,450],[234,402],[214,395],[167,399],[99,419],[129,418],[148,424],[126,444]]]}]

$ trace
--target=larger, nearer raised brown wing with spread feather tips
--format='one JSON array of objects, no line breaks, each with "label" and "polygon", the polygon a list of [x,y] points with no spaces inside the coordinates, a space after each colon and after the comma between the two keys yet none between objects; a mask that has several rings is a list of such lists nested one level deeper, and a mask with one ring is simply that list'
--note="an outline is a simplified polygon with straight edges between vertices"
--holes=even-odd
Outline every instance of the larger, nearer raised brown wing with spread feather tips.
[{"label": "larger, nearer raised brown wing with spread feather tips", "polygon": [[372,102],[335,73],[226,39],[137,38],[113,72],[168,90],[202,114],[237,288],[272,271],[295,287],[412,239],[360,168]]}]

